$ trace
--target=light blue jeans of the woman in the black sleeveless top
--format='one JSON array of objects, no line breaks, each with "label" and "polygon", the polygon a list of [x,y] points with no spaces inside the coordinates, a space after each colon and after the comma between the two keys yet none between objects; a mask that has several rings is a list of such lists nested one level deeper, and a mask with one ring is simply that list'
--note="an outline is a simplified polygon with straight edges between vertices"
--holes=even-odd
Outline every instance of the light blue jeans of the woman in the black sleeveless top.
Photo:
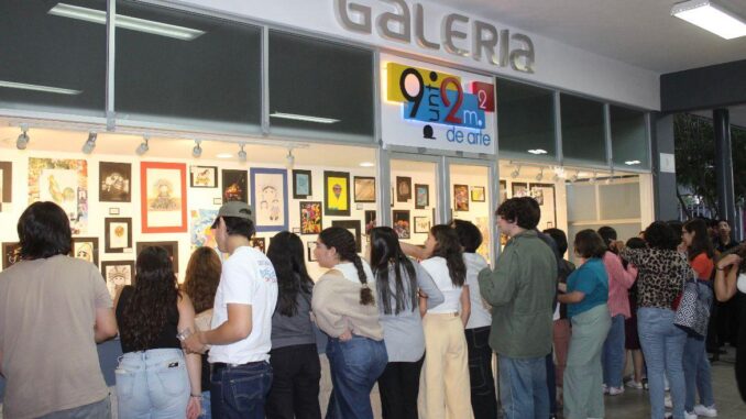
[{"label": "light blue jeans of the woman in the black sleeveless top", "polygon": [[186,415],[189,378],[180,349],[128,352],[114,374],[120,419]]}]

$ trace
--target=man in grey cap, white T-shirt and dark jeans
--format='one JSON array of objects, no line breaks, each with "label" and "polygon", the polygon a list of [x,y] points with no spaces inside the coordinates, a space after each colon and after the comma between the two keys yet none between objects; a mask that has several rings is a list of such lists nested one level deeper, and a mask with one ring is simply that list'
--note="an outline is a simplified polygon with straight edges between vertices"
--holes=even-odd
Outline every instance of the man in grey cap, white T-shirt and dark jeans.
[{"label": "man in grey cap, white T-shirt and dark jeans", "polygon": [[212,418],[264,418],[272,383],[268,361],[277,276],[272,262],[251,246],[255,229],[249,205],[223,203],[212,229],[218,250],[230,254],[215,296],[212,329],[193,333],[183,344],[198,353],[211,345]]}]

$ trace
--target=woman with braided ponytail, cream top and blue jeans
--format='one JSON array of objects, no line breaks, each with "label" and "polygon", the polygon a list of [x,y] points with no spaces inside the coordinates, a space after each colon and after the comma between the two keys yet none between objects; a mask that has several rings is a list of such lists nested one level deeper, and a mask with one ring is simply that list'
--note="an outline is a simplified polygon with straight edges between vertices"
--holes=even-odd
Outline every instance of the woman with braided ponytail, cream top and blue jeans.
[{"label": "woman with braided ponytail, cream top and blue jeans", "polygon": [[314,255],[329,269],[316,283],[311,299],[316,323],[329,335],[327,357],[333,387],[327,419],[371,419],[371,390],[388,362],[375,277],[345,229],[321,231]]}]

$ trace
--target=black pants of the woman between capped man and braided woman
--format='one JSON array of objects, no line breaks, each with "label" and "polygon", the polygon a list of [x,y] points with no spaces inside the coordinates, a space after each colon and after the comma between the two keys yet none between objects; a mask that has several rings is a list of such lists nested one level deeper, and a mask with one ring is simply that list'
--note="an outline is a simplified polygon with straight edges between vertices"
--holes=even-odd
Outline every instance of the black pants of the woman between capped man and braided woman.
[{"label": "black pants of the woman between capped man and braided woman", "polygon": [[273,349],[270,363],[274,377],[266,400],[266,417],[320,419],[321,364],[316,344]]}]

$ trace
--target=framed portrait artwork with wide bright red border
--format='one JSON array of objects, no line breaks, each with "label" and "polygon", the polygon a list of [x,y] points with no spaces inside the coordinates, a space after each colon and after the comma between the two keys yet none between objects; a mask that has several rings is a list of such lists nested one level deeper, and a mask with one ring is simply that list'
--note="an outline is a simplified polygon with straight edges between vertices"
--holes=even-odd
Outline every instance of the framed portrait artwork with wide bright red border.
[{"label": "framed portrait artwork with wide bright red border", "polygon": [[186,232],[186,164],[140,163],[143,233]]}]

